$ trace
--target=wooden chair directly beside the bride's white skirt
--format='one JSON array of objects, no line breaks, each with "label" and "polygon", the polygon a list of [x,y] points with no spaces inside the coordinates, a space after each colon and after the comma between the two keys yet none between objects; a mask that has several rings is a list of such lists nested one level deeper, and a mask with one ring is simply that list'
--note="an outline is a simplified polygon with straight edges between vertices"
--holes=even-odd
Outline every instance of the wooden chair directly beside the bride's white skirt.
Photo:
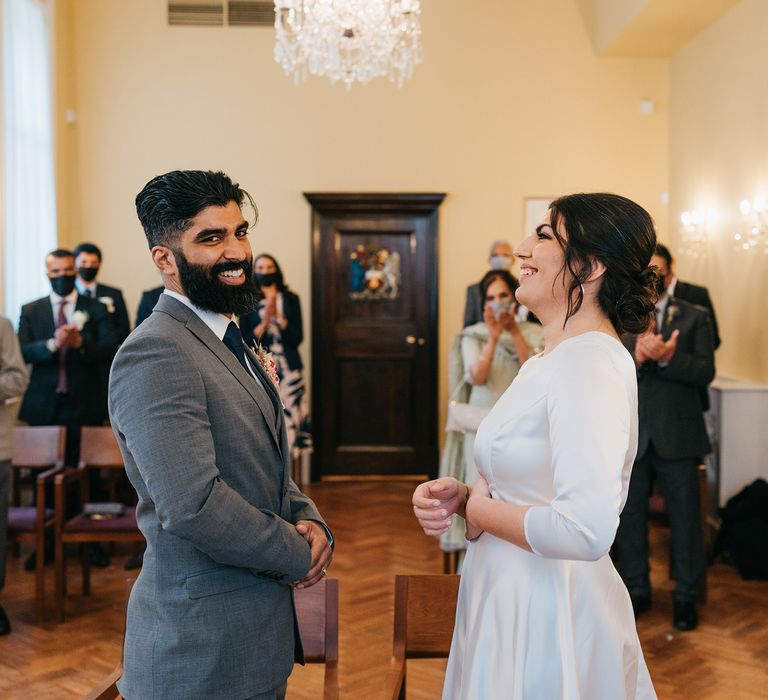
[{"label": "wooden chair directly beside the bride's white skirt", "polygon": [[405,700],[408,659],[445,659],[451,650],[459,576],[396,576],[392,661],[382,700]]}]

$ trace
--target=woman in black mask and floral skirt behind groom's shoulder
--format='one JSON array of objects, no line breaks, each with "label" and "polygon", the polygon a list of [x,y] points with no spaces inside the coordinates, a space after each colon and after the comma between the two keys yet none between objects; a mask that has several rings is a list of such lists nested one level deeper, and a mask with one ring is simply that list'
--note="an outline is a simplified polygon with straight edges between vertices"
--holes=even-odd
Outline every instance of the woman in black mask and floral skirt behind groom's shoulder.
[{"label": "woman in black mask and floral skirt behind groom's shoulder", "polygon": [[258,308],[240,317],[240,329],[247,343],[272,353],[285,406],[288,445],[292,459],[301,460],[312,450],[309,404],[298,350],[304,339],[301,304],[283,281],[283,271],[271,255],[259,255],[253,268],[264,298]]}]

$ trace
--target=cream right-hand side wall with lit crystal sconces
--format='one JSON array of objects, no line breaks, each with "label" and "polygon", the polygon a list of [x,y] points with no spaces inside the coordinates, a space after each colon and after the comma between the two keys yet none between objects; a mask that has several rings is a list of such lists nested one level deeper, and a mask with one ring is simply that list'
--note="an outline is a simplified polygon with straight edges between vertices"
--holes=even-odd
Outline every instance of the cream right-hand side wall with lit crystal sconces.
[{"label": "cream right-hand side wall with lit crystal sconces", "polygon": [[768,255],[736,249],[739,202],[768,199],[768,3],[743,0],[670,63],[670,223],[713,210],[705,255],[679,276],[706,284],[721,326],[718,371],[768,382]]}]

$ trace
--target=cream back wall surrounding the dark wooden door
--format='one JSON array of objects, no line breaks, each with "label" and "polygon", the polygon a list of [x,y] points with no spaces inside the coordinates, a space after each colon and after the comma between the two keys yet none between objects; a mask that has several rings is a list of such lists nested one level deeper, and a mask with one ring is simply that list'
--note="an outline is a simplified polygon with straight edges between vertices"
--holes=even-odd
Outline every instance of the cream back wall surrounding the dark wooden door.
[{"label": "cream back wall surrounding the dark wooden door", "polygon": [[[294,85],[262,28],[166,25],[164,0],[68,0],[78,121],[70,228],[131,310],[158,283],[133,210],[152,176],[222,168],[256,198],[257,251],[301,296],[309,335],[310,211],[303,191],[446,192],[440,218],[440,405],[465,287],[486,249],[521,237],[523,198],[610,190],[662,225],[667,64],[600,59],[573,0],[423,0],[423,65],[398,90]],[[639,100],[653,99],[643,116]],[[303,346],[305,358],[309,343]],[[441,418],[442,420],[442,418]]]}]

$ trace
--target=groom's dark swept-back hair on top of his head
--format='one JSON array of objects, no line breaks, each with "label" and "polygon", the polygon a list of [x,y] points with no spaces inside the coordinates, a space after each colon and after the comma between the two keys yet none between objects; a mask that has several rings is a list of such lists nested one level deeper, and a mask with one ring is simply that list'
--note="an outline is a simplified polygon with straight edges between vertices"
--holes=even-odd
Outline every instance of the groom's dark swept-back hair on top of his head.
[{"label": "groom's dark swept-back hair on top of his head", "polygon": [[156,245],[173,245],[206,207],[235,202],[242,208],[245,201],[258,217],[251,195],[220,170],[174,170],[144,185],[136,195],[136,213],[151,250]]}]

